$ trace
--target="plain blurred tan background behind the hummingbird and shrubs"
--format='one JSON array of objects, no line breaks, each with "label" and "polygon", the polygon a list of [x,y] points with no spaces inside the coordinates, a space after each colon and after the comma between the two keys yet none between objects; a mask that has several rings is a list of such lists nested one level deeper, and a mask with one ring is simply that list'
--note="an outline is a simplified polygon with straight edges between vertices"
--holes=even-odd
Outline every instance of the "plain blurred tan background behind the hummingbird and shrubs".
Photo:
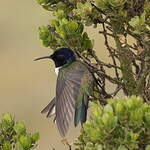
[{"label": "plain blurred tan background behind the hummingbird and shrubs", "polygon": [[[52,14],[35,0],[2,1],[0,5],[0,116],[12,113],[23,121],[29,131],[39,131],[36,150],[66,150],[52,119],[40,111],[55,96],[56,75],[54,64],[48,60],[33,59],[49,55],[38,37],[38,27],[47,25]],[[98,29],[88,28],[100,58],[108,59],[103,38]],[[79,135],[80,127],[71,127],[70,143]]]}]

